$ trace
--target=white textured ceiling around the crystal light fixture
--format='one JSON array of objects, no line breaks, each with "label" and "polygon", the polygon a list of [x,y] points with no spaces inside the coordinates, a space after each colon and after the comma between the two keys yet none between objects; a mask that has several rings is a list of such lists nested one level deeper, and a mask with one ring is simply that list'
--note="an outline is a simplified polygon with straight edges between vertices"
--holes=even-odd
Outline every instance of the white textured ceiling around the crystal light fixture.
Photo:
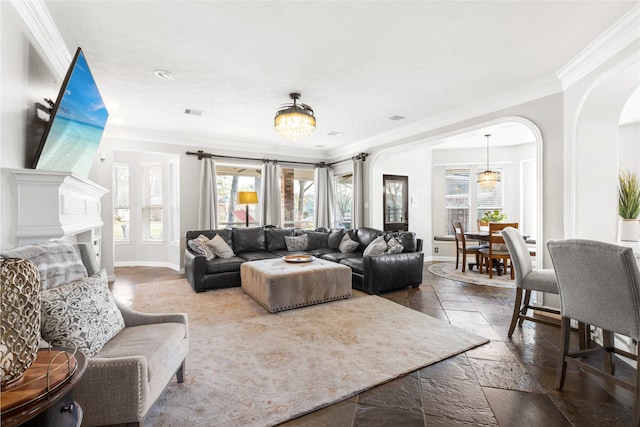
[{"label": "white textured ceiling around the crystal light fixture", "polygon": [[[553,79],[637,2],[45,4],[70,56],[85,52],[111,113],[106,135],[317,158]],[[296,143],[273,129],[292,91],[318,121]]]}]

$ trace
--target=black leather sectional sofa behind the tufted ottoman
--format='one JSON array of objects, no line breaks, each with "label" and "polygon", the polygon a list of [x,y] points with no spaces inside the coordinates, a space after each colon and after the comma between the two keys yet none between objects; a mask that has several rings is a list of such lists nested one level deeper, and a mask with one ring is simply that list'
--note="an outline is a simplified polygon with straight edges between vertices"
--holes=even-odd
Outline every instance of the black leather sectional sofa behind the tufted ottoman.
[{"label": "black leather sectional sofa behind the tufted ottoman", "polygon": [[[338,249],[344,233],[348,233],[352,240],[358,242],[355,252],[342,253]],[[342,229],[307,231],[265,226],[188,231],[187,241],[197,238],[200,234],[209,239],[219,234],[233,249],[235,255],[231,258],[215,257],[207,260],[204,255],[196,253],[186,245],[184,271],[196,292],[240,286],[240,264],[243,262],[294,254],[309,254],[347,265],[352,271],[353,288],[369,294],[380,294],[408,286],[418,287],[422,283],[424,262],[422,239],[416,238],[415,233],[411,232],[385,233],[367,227],[348,231]],[[307,235],[307,249],[288,251],[285,236],[302,234]],[[396,238],[402,244],[403,252],[363,256],[366,247],[379,236],[385,236],[387,241],[392,237]]]}]

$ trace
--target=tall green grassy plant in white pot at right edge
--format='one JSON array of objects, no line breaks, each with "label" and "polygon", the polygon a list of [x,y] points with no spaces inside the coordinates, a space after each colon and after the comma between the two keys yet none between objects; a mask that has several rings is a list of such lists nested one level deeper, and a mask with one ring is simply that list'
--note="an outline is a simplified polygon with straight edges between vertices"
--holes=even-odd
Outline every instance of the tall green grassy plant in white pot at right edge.
[{"label": "tall green grassy plant in white pot at right edge", "polygon": [[633,172],[618,172],[618,238],[637,242],[640,240],[640,181]]}]

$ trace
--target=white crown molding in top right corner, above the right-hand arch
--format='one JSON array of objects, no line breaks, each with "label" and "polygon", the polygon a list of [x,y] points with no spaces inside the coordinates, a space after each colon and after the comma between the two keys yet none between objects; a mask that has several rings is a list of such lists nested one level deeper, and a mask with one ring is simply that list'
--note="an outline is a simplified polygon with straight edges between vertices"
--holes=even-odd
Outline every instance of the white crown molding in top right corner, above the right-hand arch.
[{"label": "white crown molding in top right corner, above the right-hand arch", "polygon": [[556,73],[562,82],[563,90],[571,87],[639,38],[640,4],[636,4]]}]

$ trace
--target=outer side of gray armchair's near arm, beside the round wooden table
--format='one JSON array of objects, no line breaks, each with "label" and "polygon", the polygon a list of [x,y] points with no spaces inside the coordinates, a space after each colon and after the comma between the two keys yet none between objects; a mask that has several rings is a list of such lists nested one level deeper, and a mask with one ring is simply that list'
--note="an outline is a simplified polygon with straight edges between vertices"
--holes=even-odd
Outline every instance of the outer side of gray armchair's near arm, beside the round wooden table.
[{"label": "outer side of gray armchair's near arm, beside the round wooden table", "polygon": [[74,389],[88,425],[141,421],[149,402],[149,378],[144,356],[93,357]]}]

